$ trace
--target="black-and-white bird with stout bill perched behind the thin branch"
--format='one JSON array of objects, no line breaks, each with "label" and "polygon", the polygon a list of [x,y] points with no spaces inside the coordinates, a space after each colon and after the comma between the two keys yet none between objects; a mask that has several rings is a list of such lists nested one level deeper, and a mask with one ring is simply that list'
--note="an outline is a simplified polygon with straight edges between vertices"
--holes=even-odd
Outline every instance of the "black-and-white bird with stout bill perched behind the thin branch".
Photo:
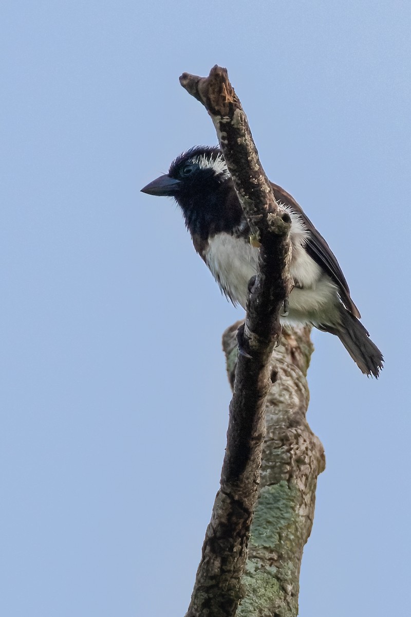
[{"label": "black-and-white bird with stout bill perched behind the thin branch", "polygon": [[[293,289],[282,323],[309,324],[338,336],[362,373],[378,378],[383,355],[360,320],[348,283],[325,239],[287,191],[271,183],[275,200],[291,218]],[[195,146],[142,193],[174,197],[193,245],[225,296],[246,309],[249,281],[258,272],[258,246],[219,147]]]}]

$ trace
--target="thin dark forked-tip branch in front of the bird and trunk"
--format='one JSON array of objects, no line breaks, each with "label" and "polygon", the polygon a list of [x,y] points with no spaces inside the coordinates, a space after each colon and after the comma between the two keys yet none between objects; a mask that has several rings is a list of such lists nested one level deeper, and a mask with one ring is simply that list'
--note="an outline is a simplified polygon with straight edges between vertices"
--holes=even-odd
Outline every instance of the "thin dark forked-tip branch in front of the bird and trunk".
[{"label": "thin dark forked-tip branch in front of the bird and trunk", "polygon": [[221,67],[208,78],[184,73],[182,86],[207,109],[254,242],[261,244],[259,273],[250,284],[240,354],[230,403],[227,449],[211,522],[187,617],[234,617],[243,597],[248,537],[257,499],[271,379],[270,361],[280,339],[279,313],[291,291],[290,217],[275,202],[240,101]]}]

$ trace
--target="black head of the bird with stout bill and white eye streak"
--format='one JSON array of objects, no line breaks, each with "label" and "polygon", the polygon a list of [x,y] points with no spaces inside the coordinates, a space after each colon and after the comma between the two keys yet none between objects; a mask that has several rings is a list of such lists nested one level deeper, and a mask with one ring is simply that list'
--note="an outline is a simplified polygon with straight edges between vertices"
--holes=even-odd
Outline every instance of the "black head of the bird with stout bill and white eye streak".
[{"label": "black head of the bird with stout bill and white eye streak", "polygon": [[173,161],[167,174],[141,190],[149,195],[174,197],[190,232],[201,238],[237,225],[242,215],[218,147],[191,148]]}]

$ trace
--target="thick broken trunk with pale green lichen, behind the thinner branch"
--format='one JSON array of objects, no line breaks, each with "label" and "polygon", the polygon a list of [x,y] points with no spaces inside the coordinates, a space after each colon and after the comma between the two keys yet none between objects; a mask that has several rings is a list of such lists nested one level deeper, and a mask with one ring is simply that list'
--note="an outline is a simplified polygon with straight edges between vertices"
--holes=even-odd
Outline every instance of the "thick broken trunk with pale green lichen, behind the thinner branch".
[{"label": "thick broken trunk with pale green lichen, behind the thinner branch", "polygon": [[[237,359],[238,323],[222,343],[230,383]],[[317,476],[324,449],[306,420],[307,368],[313,347],[310,328],[283,329],[271,360],[258,500],[242,579],[245,597],[237,617],[298,615],[299,568],[314,519]]]}]

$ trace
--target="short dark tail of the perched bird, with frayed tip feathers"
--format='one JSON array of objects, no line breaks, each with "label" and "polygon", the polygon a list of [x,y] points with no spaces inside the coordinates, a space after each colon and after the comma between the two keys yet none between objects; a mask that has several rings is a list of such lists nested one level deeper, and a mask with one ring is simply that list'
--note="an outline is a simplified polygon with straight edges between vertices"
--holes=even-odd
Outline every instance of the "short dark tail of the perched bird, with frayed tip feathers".
[{"label": "short dark tail of the perched bird, with frayed tip feathers", "polygon": [[336,334],[343,346],[365,375],[378,378],[383,368],[383,354],[370,339],[362,323],[347,309],[341,307],[341,325],[338,328],[324,328]]}]

